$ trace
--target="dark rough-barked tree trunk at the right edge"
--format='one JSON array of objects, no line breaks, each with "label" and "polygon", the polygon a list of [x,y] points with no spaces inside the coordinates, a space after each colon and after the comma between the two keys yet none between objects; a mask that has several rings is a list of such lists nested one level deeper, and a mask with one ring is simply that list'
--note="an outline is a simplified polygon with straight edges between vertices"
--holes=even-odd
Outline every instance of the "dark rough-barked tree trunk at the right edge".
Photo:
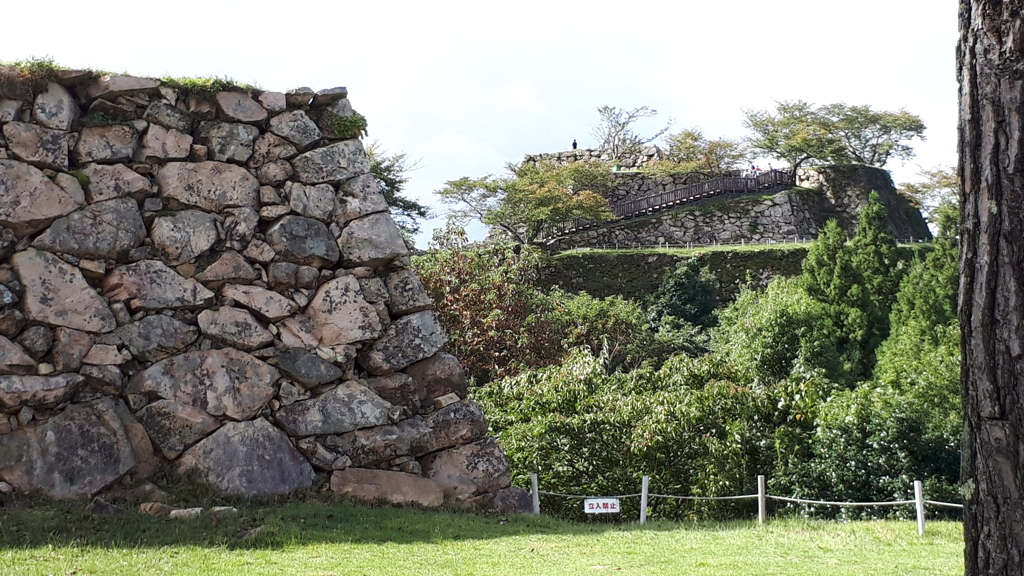
[{"label": "dark rough-barked tree trunk at the right edge", "polygon": [[966,574],[1024,574],[1024,0],[961,0]]}]

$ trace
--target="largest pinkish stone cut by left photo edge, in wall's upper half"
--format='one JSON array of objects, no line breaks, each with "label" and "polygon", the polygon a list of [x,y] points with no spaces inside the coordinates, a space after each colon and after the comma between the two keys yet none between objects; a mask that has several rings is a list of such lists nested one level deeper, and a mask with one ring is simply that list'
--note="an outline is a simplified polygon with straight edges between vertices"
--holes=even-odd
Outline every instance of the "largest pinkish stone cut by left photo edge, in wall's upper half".
[{"label": "largest pinkish stone cut by left photo edge, in wall's upper half", "polygon": [[19,238],[43,230],[77,208],[75,199],[39,168],[0,160],[0,225]]}]

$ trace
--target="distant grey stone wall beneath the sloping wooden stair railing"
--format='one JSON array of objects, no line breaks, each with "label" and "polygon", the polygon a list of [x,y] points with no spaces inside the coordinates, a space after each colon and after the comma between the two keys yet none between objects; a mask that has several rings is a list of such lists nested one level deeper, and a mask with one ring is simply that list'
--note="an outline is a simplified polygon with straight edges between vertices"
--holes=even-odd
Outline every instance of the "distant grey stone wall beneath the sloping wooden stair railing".
[{"label": "distant grey stone wall beneath the sloping wooden stair railing", "polygon": [[885,204],[890,229],[899,240],[931,238],[920,210],[896,192],[885,170],[869,166],[822,167],[801,171],[798,181],[804,188],[770,195],[723,195],[674,210],[612,220],[562,238],[553,247],[806,241],[816,238],[829,218],[836,218],[852,234],[857,213],[872,191]]}]

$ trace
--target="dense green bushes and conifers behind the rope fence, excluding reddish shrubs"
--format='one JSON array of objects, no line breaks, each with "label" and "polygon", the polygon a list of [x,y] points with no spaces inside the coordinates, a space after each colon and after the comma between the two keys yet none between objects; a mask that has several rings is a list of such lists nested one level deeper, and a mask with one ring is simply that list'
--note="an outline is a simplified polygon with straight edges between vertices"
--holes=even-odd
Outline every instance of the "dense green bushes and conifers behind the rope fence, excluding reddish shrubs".
[{"label": "dense green bushes and conifers behind the rope fence, excluding reddish shrubs", "polygon": [[[717,326],[678,320],[690,330],[688,339],[674,333],[666,349],[675,355],[659,363],[623,362],[651,354],[656,338],[624,339],[633,329],[615,328],[660,310],[664,334],[664,320],[676,318],[665,314],[673,297],[682,300],[676,310],[701,310],[702,292],[693,289],[698,268],[684,262],[668,275],[657,304],[646,311],[627,300],[555,292],[548,301],[561,307],[534,308],[547,318],[547,332],[527,339],[550,342],[555,334],[566,347],[557,348],[558,358],[521,364],[476,388],[474,398],[516,483],[526,485],[538,472],[546,491],[631,494],[648,475],[658,494],[750,494],[756,476],[766,475],[773,494],[810,499],[905,500],[912,498],[912,481],[923,480],[929,498],[958,501],[951,218],[926,258],[899,262],[892,237],[880,228],[884,208],[872,201],[852,239],[835,224],[822,231],[803,277],[742,291],[714,315]],[[567,337],[569,325],[577,336]],[[700,338],[710,340],[707,348]],[[583,517],[578,500],[545,497],[543,506]],[[635,499],[624,500],[625,513],[635,506]],[[750,517],[753,506],[654,499],[650,513]],[[777,505],[784,510],[912,515],[907,507]]]}]

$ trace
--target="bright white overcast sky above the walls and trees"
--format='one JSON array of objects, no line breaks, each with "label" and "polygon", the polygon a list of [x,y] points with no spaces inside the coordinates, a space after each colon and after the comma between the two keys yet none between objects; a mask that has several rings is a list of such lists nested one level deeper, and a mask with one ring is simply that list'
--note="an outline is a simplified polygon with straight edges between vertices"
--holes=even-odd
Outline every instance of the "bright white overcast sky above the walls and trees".
[{"label": "bright white overcast sky above the walls and trees", "polygon": [[[347,86],[370,139],[419,160],[409,196],[499,173],[525,154],[596,146],[596,109],[649,106],[709,137],[776,100],[905,108],[918,157],[956,160],[955,0],[242,3],[5,2],[0,59],[51,56],[136,76],[263,89]],[[440,210],[438,210],[440,212]],[[425,247],[428,223],[417,245]]]}]

